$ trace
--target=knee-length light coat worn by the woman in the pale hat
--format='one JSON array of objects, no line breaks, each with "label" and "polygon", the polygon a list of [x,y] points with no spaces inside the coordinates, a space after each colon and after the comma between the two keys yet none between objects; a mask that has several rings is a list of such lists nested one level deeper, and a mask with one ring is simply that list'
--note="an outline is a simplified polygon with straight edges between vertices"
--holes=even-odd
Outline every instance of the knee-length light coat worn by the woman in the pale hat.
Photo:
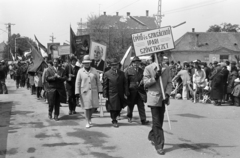
[{"label": "knee-length light coat worn by the woman in the pale hat", "polygon": [[98,93],[102,92],[99,74],[95,68],[89,72],[81,68],[77,73],[75,94],[80,95],[80,101],[84,109],[98,108]]}]

